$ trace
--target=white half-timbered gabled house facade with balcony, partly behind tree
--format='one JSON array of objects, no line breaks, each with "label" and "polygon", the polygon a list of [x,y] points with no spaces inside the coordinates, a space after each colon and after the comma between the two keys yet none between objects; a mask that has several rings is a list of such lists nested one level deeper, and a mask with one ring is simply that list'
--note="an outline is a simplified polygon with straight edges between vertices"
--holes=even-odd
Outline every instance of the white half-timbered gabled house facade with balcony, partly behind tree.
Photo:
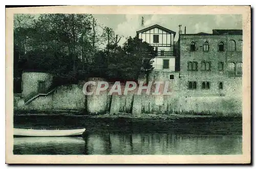
[{"label": "white half-timbered gabled house facade with balcony, partly behind tree", "polygon": [[175,71],[174,38],[176,33],[158,24],[137,31],[137,36],[154,46],[157,57],[154,70]]}]

